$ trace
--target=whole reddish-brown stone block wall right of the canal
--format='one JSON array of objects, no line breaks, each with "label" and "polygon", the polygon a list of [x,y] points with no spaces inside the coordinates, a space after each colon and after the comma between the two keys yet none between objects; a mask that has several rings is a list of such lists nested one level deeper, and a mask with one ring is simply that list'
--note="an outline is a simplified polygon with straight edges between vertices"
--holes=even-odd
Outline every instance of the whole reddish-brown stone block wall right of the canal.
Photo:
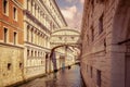
[{"label": "whole reddish-brown stone block wall right of the canal", "polygon": [[129,14],[130,0],[84,1],[81,73],[87,87],[130,86]]}]

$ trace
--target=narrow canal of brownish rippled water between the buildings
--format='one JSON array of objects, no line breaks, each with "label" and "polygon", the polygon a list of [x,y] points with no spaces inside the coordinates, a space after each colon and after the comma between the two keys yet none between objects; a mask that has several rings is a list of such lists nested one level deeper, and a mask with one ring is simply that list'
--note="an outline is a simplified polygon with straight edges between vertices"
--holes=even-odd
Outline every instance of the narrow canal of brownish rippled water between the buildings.
[{"label": "narrow canal of brownish rippled water between the buildings", "polygon": [[58,71],[56,74],[37,78],[20,87],[84,87],[80,75],[80,67],[73,65],[70,69]]}]

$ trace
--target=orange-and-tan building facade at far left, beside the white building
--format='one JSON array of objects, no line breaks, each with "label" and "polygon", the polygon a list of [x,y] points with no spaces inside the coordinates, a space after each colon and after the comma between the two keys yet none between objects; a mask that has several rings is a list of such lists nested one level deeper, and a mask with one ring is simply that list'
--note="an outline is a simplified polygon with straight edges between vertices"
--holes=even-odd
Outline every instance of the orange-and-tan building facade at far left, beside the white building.
[{"label": "orange-and-tan building facade at far left, beside the white building", "polygon": [[[8,0],[8,15],[3,12],[0,0],[0,87],[23,80],[24,27],[23,0]],[[17,10],[17,20],[13,17],[13,8]],[[6,28],[6,41],[4,40]],[[14,42],[14,32],[16,33]]]}]

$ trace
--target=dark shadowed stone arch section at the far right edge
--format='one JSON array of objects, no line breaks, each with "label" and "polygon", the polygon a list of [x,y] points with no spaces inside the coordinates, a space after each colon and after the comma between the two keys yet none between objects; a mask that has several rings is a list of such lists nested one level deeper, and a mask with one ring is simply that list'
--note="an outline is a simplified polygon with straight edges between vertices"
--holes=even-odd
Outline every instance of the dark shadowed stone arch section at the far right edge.
[{"label": "dark shadowed stone arch section at the far right edge", "polygon": [[112,87],[130,87],[130,0],[119,0],[116,9],[112,36]]}]

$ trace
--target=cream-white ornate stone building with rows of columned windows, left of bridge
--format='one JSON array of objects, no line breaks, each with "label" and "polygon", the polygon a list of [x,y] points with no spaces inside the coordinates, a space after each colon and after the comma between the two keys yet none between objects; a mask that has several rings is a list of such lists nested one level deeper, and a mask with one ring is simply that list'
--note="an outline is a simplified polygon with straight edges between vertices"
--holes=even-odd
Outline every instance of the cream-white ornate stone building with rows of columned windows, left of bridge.
[{"label": "cream-white ornate stone building with rows of columned windows, left of bridge", "polygon": [[66,22],[54,0],[24,0],[26,79],[53,71],[51,60],[46,58],[51,51],[50,36],[64,26]]}]

